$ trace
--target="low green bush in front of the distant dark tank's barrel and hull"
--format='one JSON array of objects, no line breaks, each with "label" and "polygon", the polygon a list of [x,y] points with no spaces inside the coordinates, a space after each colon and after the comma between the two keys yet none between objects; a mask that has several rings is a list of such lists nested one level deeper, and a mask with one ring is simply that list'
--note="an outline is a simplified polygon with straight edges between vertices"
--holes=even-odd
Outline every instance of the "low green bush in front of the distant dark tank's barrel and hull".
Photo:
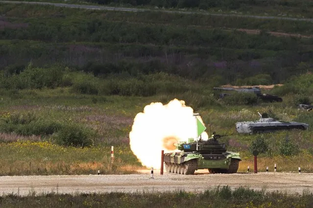
[{"label": "low green bush in front of the distant dark tank's barrel and hull", "polygon": [[228,105],[253,105],[258,103],[258,97],[254,93],[232,92],[221,99]]}]

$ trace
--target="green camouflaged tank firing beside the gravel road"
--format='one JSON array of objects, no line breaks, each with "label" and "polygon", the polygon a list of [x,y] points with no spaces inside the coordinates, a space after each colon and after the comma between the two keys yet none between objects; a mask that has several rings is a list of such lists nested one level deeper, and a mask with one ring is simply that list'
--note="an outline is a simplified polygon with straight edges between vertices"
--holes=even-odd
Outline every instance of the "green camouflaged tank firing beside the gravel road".
[{"label": "green camouflaged tank firing beside the gravel road", "polygon": [[181,152],[164,154],[166,171],[184,175],[198,169],[208,169],[210,173],[236,173],[241,157],[239,153],[227,151],[225,144],[217,141],[220,137],[214,132],[206,141],[178,144],[177,149]]}]

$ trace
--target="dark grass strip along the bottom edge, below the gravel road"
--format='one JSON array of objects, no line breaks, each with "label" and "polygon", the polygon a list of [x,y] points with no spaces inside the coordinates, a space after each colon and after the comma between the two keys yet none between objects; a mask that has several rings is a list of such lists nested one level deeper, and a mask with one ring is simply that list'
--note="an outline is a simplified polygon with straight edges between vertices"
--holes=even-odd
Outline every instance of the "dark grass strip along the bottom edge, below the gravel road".
[{"label": "dark grass strip along the bottom edge, below the gravel road", "polygon": [[[138,192],[138,193],[90,193],[90,194],[58,194],[35,195],[29,191],[28,196],[12,193],[0,196],[3,207],[206,207],[206,208],[259,208],[259,207],[311,207],[313,194],[304,191],[300,194],[267,192],[240,187],[208,189],[203,193],[191,193],[184,190],[176,192]],[[38,194],[38,193],[37,193]],[[40,193],[39,193],[40,194]]]}]

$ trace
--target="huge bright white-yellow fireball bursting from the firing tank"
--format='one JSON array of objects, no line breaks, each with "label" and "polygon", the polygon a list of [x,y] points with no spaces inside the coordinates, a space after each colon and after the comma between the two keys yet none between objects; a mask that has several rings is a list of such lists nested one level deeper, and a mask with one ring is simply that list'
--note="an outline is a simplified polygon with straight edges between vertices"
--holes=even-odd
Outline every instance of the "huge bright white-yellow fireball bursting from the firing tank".
[{"label": "huge bright white-yellow fireball bursting from the firing tank", "polygon": [[[174,99],[165,105],[151,103],[134,119],[129,133],[130,148],[143,166],[158,169],[161,150],[165,153],[179,151],[175,144],[195,136],[193,108],[186,106],[184,101]],[[203,132],[201,137],[205,140],[208,134]]]}]

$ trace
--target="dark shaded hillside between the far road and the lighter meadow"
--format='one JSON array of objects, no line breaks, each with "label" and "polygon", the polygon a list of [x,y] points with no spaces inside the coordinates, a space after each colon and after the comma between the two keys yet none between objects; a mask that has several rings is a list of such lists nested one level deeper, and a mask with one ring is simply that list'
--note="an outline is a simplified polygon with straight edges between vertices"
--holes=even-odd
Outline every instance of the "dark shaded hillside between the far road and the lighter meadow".
[{"label": "dark shaded hillside between the far road and the lighter meadow", "polygon": [[165,71],[222,84],[261,73],[282,83],[312,65],[313,39],[288,36],[310,36],[309,21],[2,5],[7,26],[1,34],[0,67],[12,71],[31,61],[95,75]]}]

